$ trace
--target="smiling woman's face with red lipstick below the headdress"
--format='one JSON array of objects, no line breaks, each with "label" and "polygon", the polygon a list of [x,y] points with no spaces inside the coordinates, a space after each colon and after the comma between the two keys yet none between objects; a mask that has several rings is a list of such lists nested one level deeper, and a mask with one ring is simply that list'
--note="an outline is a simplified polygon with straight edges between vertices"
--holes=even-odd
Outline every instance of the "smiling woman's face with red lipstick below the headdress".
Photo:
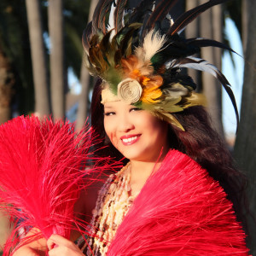
[{"label": "smiling woman's face with red lipstick below the headdress", "polygon": [[130,160],[155,162],[168,149],[167,123],[125,102],[104,104],[104,127],[113,146]]}]

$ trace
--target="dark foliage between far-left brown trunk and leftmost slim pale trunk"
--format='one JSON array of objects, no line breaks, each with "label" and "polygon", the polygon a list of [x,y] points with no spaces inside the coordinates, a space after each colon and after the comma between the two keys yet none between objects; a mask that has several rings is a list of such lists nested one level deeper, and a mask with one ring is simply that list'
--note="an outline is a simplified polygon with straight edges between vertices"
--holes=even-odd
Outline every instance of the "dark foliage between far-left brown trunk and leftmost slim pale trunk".
[{"label": "dark foliage between far-left brown trunk and leftmost slim pale trunk", "polygon": [[20,113],[33,108],[32,62],[26,21],[26,6],[22,0],[1,0],[0,44],[12,63],[15,73],[16,101]]}]

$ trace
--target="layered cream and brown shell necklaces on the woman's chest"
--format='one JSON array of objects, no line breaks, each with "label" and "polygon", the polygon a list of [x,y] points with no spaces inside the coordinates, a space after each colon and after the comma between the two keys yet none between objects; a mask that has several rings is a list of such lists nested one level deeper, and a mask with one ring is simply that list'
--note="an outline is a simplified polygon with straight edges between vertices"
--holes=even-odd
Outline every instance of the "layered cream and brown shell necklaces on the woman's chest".
[{"label": "layered cream and brown shell necklaces on the woman's chest", "polygon": [[135,199],[135,196],[131,195],[130,178],[131,164],[128,163],[117,174],[110,175],[99,191],[90,222],[95,236],[88,239],[93,254],[90,248],[87,248],[86,255],[106,255],[108,252],[119,224]]}]

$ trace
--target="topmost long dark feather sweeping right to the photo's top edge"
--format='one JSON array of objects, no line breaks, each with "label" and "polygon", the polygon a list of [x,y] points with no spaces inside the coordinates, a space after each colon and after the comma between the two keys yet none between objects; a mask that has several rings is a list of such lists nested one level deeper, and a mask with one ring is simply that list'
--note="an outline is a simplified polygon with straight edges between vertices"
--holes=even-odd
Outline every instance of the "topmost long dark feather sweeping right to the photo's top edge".
[{"label": "topmost long dark feather sweeping right to the photo's top edge", "polygon": [[195,20],[195,18],[207,9],[210,9],[212,6],[217,5],[219,3],[225,3],[229,0],[211,0],[207,3],[203,3],[194,9],[190,9],[189,11],[180,15],[174,24],[171,26],[169,31],[167,32],[170,35],[173,35],[177,32],[181,32],[191,21]]}]

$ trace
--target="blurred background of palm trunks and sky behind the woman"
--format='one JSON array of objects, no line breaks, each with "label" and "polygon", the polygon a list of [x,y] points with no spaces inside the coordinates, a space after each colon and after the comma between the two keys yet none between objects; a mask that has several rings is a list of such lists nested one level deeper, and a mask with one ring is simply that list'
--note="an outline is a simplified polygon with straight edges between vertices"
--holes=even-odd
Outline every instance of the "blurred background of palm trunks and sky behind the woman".
[{"label": "blurred background of palm trunks and sky behind the woman", "polygon": [[[139,0],[128,1],[129,7]],[[156,1],[157,2],[157,1]],[[207,0],[179,0],[171,15]],[[97,0],[0,1],[0,124],[18,115],[67,118],[84,125],[94,79],[83,65],[81,37]],[[211,75],[189,72],[205,94],[212,123],[224,137],[237,165],[250,181],[251,209],[256,209],[256,9],[255,0],[231,0],[193,21],[188,38],[214,38],[239,55],[202,49],[201,57],[221,68],[230,81],[240,110],[236,116],[229,97]],[[241,57],[241,56],[243,57]],[[256,230],[250,247],[255,250]],[[0,244],[8,236],[7,218],[0,217]],[[252,249],[253,252],[253,249]],[[255,253],[256,255],[256,253]]]}]

